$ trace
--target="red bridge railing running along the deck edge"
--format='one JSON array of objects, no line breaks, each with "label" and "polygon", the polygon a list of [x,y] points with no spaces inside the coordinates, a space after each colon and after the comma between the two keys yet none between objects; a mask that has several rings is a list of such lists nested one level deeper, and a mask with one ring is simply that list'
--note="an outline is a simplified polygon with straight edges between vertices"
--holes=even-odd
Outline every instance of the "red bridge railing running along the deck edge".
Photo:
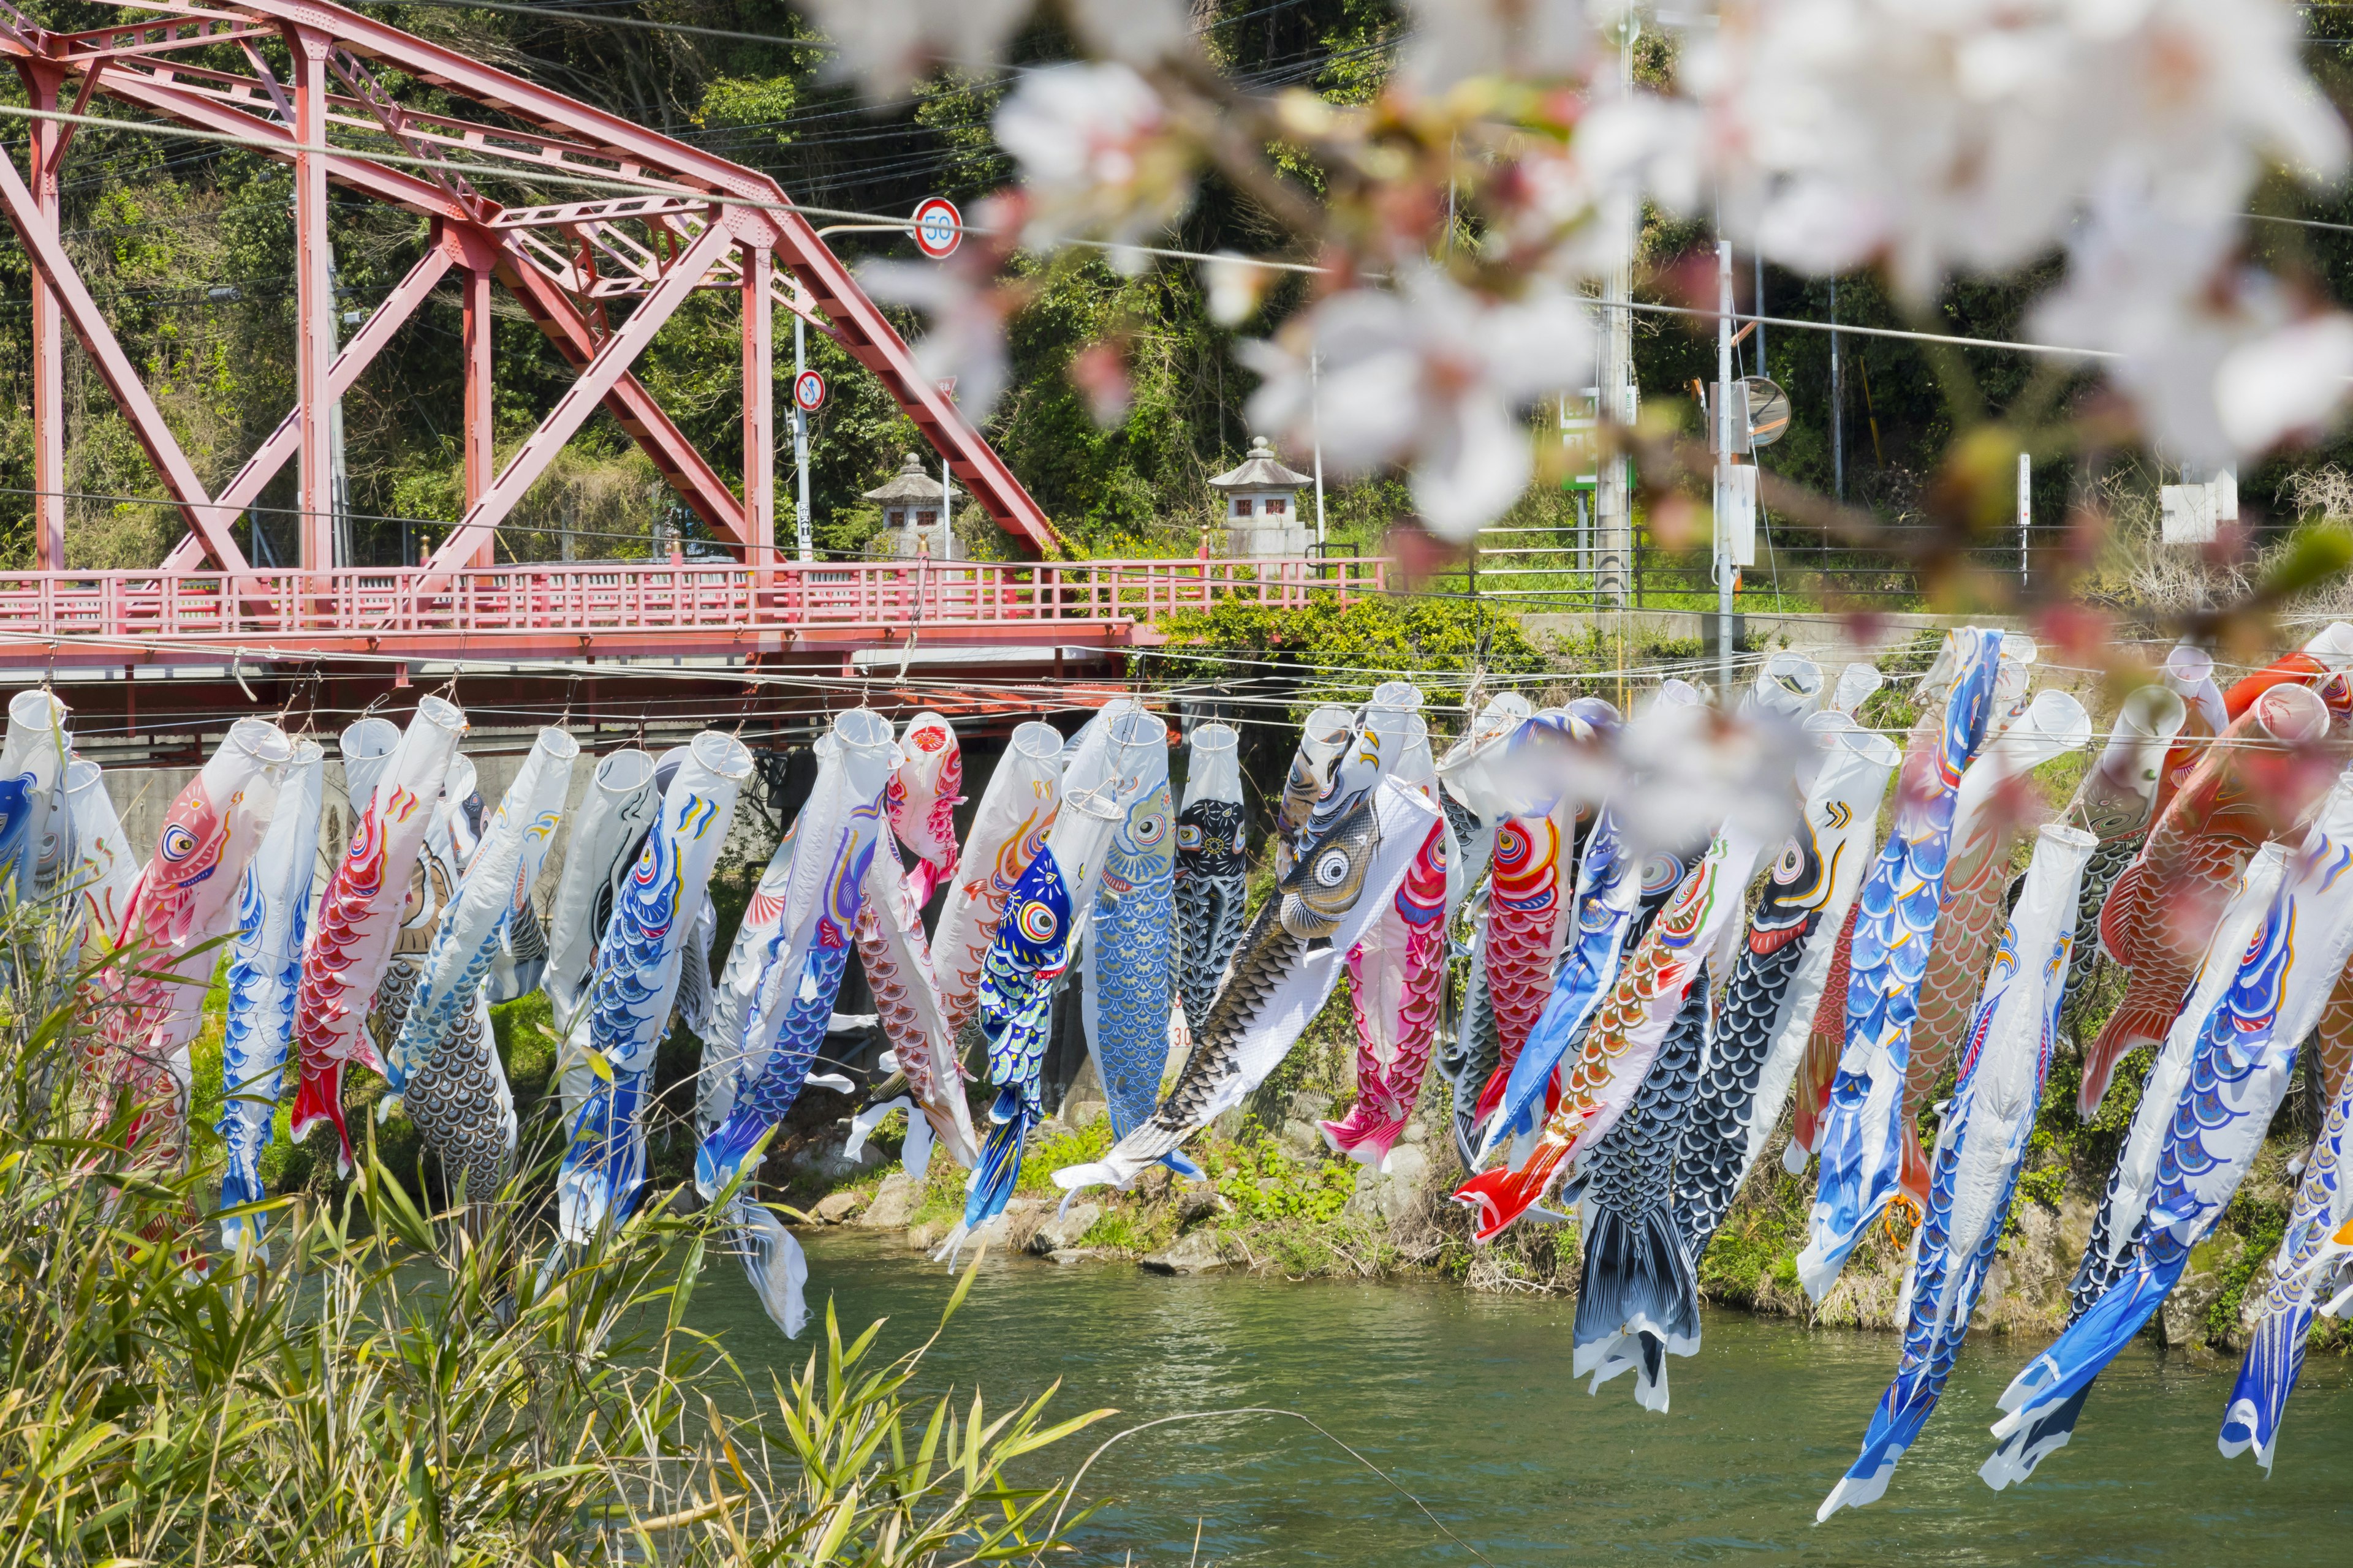
[{"label": "red bridge railing running along the deck edge", "polygon": [[736,646],[1151,639],[1151,623],[1219,599],[1299,607],[1381,592],[1388,562],[584,562],[428,574],[16,571],[0,574],[0,663],[242,649],[572,656]]}]

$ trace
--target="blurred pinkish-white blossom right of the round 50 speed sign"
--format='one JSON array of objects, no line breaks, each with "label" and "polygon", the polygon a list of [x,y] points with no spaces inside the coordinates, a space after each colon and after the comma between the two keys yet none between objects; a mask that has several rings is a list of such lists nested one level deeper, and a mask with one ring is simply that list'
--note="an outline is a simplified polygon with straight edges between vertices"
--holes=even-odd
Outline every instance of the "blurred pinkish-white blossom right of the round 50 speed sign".
[{"label": "blurred pinkish-white blossom right of the round 50 speed sign", "polygon": [[[995,132],[1021,165],[1026,244],[1045,249],[1080,237],[1136,244],[1193,202],[1193,153],[1169,134],[1160,94],[1127,66],[1031,71],[998,108]],[[1148,261],[1111,252],[1127,275]]]}]

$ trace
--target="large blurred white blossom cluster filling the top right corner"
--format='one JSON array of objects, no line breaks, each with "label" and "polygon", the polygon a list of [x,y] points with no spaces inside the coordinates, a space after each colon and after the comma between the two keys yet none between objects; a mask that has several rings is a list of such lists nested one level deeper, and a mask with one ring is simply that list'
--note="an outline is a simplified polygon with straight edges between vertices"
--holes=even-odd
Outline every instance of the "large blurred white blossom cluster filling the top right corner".
[{"label": "large blurred white blossom cluster filling the top right corner", "polygon": [[1687,35],[1678,80],[1737,237],[1929,299],[2031,261],[2099,186],[2226,223],[2266,160],[2334,174],[2301,33],[2280,0],[1753,0]]}]

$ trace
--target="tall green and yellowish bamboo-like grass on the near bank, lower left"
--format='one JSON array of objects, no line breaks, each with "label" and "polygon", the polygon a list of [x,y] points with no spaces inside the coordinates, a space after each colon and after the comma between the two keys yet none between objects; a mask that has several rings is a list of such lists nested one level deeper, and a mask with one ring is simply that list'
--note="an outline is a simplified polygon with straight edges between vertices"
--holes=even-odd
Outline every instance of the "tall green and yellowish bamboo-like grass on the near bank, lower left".
[{"label": "tall green and yellowish bamboo-like grass on the near bank, lower left", "polygon": [[880,1324],[845,1340],[828,1309],[788,1385],[746,1385],[692,1326],[718,1208],[649,1194],[544,1272],[522,1192],[546,1166],[433,1213],[369,1147],[344,1201],[256,1204],[266,1248],[207,1258],[216,1161],[134,1143],[134,1107],[82,1070],[101,1009],[24,961],[21,931],[0,940],[19,959],[0,999],[7,1563],[882,1568],[1031,1556],[1085,1516],[1009,1469],[1104,1413],[1049,1422],[1052,1389],[1002,1413],[918,1401],[936,1335],[885,1361]]}]

